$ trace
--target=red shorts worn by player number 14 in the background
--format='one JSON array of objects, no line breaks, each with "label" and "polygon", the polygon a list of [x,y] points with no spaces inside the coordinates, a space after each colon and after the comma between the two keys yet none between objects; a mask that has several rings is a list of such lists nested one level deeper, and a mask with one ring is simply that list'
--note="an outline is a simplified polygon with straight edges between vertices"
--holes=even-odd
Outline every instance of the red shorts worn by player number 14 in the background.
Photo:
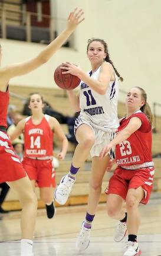
[{"label": "red shorts worn by player number 14 in the background", "polygon": [[38,187],[56,187],[55,170],[52,160],[37,160],[25,157],[22,165],[28,174],[29,180],[37,181]]}]

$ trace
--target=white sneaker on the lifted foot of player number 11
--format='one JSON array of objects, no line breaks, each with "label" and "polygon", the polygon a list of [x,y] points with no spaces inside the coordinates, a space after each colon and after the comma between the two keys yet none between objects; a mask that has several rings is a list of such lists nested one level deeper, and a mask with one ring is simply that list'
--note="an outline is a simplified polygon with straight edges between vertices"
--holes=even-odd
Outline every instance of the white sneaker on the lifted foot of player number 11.
[{"label": "white sneaker on the lifted foot of player number 11", "polygon": [[73,178],[68,177],[68,174],[61,179],[60,184],[58,185],[54,193],[54,198],[57,201],[57,203],[66,203],[74,183],[75,180]]}]

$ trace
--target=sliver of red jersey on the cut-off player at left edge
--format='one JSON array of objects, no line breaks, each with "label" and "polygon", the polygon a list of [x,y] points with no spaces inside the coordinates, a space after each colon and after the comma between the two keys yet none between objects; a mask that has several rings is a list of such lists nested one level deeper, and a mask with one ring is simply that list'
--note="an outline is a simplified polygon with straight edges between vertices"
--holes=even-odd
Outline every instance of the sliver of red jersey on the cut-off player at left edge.
[{"label": "sliver of red jersey on the cut-off player at left edge", "polygon": [[6,92],[0,91],[0,126],[7,127],[6,124],[6,115],[7,115],[7,108],[9,104],[9,89],[7,88]]}]

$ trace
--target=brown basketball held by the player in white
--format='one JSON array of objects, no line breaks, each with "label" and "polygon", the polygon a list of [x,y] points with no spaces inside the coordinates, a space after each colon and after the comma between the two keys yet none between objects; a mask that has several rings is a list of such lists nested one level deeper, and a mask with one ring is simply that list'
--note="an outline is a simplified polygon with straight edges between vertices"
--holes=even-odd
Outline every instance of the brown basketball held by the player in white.
[{"label": "brown basketball held by the player in white", "polygon": [[59,65],[54,72],[54,81],[55,84],[58,85],[61,89],[74,89],[80,84],[80,78],[78,76],[71,75],[70,73],[63,74],[62,72],[66,71],[65,69],[61,69],[61,66]]}]

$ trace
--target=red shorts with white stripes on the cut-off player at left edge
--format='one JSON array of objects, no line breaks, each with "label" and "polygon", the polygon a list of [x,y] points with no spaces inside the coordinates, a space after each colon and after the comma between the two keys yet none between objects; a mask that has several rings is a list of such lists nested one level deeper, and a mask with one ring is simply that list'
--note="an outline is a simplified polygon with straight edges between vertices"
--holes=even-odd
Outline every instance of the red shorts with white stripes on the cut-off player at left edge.
[{"label": "red shorts with white stripes on the cut-off player at left edge", "polygon": [[0,131],[0,183],[16,181],[26,176],[8,135]]}]

